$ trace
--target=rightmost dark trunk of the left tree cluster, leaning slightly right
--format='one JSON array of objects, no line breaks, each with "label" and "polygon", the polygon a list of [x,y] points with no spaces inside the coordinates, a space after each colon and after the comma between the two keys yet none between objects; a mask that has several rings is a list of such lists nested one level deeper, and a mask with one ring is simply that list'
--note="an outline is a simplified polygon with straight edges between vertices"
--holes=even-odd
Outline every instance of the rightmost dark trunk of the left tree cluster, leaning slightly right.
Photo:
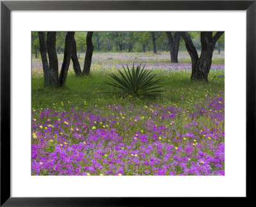
[{"label": "rightmost dark trunk of the left tree cluster, leaning slightly right", "polygon": [[86,54],[84,57],[83,75],[89,75],[90,69],[91,69],[92,54],[93,54],[92,34],[93,34],[93,32],[90,31],[87,33],[87,36],[86,36],[87,48],[86,48]]}]

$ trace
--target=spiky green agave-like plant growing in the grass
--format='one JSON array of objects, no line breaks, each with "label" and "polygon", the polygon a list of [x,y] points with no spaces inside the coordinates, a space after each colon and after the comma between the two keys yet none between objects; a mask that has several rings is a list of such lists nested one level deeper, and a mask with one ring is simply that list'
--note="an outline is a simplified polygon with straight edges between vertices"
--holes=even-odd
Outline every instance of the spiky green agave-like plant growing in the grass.
[{"label": "spiky green agave-like plant growing in the grass", "polygon": [[150,95],[150,96],[158,96],[159,92],[163,90],[156,90],[157,88],[161,88],[161,86],[156,86],[159,82],[163,81],[163,79],[154,80],[156,74],[152,74],[152,71],[146,70],[145,65],[141,67],[141,65],[130,69],[127,65],[127,69],[124,68],[124,72],[118,69],[120,73],[120,77],[117,77],[114,73],[109,74],[116,83],[109,83],[110,86],[114,86],[116,88],[122,89],[124,93],[128,93],[129,95]]}]

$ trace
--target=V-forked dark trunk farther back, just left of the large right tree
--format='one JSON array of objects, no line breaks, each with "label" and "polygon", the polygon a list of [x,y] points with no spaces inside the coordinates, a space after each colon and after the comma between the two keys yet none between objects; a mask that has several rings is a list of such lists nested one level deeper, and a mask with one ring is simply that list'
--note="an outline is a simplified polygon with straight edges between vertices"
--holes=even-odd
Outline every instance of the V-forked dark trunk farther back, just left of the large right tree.
[{"label": "V-forked dark trunk farther back, just left of the large right tree", "polygon": [[172,32],[166,31],[168,37],[168,45],[170,48],[171,63],[178,63],[178,53],[180,45],[180,32],[175,32],[172,36]]}]

